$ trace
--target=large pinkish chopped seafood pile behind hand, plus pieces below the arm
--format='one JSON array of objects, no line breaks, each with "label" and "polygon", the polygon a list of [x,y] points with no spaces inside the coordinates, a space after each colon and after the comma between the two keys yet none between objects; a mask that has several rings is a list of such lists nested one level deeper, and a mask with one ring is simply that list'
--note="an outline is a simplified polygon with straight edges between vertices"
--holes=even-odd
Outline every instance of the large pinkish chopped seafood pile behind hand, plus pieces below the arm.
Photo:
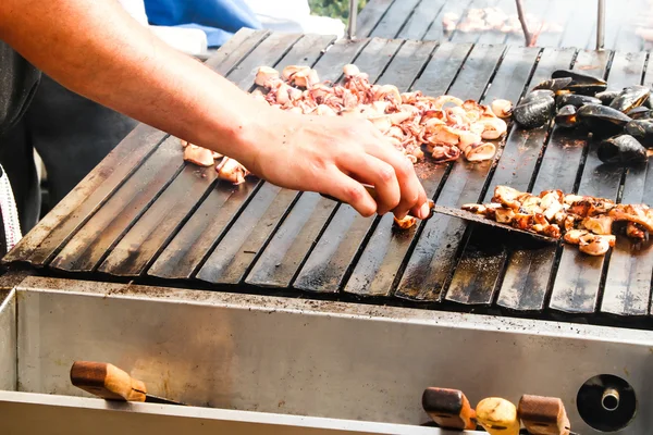
[{"label": "large pinkish chopped seafood pile behind hand, plus pieces below the arm", "polygon": [[[343,69],[344,83],[321,83],[316,70],[291,65],[281,73],[269,66],[257,70],[251,92],[261,102],[298,114],[359,117],[371,122],[387,140],[412,163],[424,159],[422,145],[438,162],[461,156],[470,162],[494,158],[496,146],[486,140],[502,138],[507,132],[504,119],[512,115],[513,103],[495,100],[491,105],[454,96],[426,97],[419,90],[399,92],[393,85],[373,85],[356,65]],[[235,184],[249,174],[237,161],[187,145],[184,160],[209,166],[213,159],[218,175]]]}]

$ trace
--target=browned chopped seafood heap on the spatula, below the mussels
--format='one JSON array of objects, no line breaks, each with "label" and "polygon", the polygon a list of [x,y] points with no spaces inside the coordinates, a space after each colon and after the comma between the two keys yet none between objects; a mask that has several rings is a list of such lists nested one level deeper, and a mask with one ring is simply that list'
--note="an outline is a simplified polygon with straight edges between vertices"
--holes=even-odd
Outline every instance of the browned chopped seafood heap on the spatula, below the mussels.
[{"label": "browned chopped seafood heap on the spatula, below the mussels", "polygon": [[497,186],[491,203],[465,204],[463,209],[516,228],[562,237],[590,256],[603,256],[614,247],[613,229],[619,224],[626,236],[636,240],[648,240],[653,232],[653,210],[645,204],[621,204],[560,190],[532,195]]}]

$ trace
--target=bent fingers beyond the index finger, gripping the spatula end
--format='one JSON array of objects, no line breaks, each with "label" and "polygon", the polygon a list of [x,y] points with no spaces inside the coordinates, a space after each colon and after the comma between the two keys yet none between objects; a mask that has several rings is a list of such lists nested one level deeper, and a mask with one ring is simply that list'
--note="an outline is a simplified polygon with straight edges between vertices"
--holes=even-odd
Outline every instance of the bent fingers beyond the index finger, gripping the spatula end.
[{"label": "bent fingers beyond the index finger, gripping the spatula end", "polygon": [[392,210],[398,219],[405,217],[408,212],[416,217],[427,219],[430,213],[427,192],[415,173],[412,163],[392,145],[380,146],[380,144],[387,142],[383,138],[383,140],[367,146],[366,151],[390,164],[394,170],[399,187],[399,202],[389,210]]}]

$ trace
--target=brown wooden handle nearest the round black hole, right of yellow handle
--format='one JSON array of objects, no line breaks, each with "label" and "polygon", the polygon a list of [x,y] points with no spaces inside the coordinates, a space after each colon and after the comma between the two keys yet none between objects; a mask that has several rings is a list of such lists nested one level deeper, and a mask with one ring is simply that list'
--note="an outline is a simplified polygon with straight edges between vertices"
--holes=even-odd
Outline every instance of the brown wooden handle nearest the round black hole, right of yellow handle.
[{"label": "brown wooden handle nearest the round black hole, right of yellow handle", "polygon": [[517,414],[531,435],[569,435],[569,418],[558,398],[523,395]]}]

